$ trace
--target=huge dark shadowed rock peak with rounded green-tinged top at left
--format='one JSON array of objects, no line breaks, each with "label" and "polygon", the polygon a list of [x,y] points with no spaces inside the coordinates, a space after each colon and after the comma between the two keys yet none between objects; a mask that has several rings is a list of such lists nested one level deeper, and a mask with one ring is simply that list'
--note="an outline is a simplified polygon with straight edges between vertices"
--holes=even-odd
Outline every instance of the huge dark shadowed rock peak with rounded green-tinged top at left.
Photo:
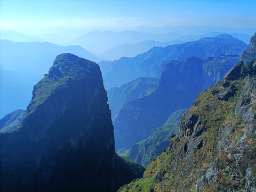
[{"label": "huge dark shadowed rock peak with rounded green-tinged top at left", "polygon": [[0,160],[2,191],[115,191],[141,174],[115,153],[99,66],[68,53],[34,86],[23,124],[0,134]]}]

